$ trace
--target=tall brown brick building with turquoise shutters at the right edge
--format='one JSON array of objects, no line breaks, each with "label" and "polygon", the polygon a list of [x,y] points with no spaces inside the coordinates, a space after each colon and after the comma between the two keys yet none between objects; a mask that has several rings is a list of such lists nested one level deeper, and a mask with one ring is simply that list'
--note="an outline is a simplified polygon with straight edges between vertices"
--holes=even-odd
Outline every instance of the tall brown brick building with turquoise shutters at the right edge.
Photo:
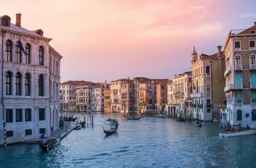
[{"label": "tall brown brick building with turquoise shutters at the right edge", "polygon": [[224,44],[225,88],[230,125],[256,126],[256,22],[246,30],[231,30]]}]

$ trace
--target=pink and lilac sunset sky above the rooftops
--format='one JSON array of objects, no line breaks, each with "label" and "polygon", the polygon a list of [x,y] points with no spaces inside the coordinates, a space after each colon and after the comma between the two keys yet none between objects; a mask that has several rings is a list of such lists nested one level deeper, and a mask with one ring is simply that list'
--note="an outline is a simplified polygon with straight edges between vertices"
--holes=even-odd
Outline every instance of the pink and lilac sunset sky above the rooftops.
[{"label": "pink and lilac sunset sky above the rooftops", "polygon": [[[62,56],[61,82],[101,82],[189,71],[194,45],[214,54],[231,29],[256,21],[256,1],[4,1],[0,15],[22,14]],[[4,7],[4,8],[3,8]]]}]

